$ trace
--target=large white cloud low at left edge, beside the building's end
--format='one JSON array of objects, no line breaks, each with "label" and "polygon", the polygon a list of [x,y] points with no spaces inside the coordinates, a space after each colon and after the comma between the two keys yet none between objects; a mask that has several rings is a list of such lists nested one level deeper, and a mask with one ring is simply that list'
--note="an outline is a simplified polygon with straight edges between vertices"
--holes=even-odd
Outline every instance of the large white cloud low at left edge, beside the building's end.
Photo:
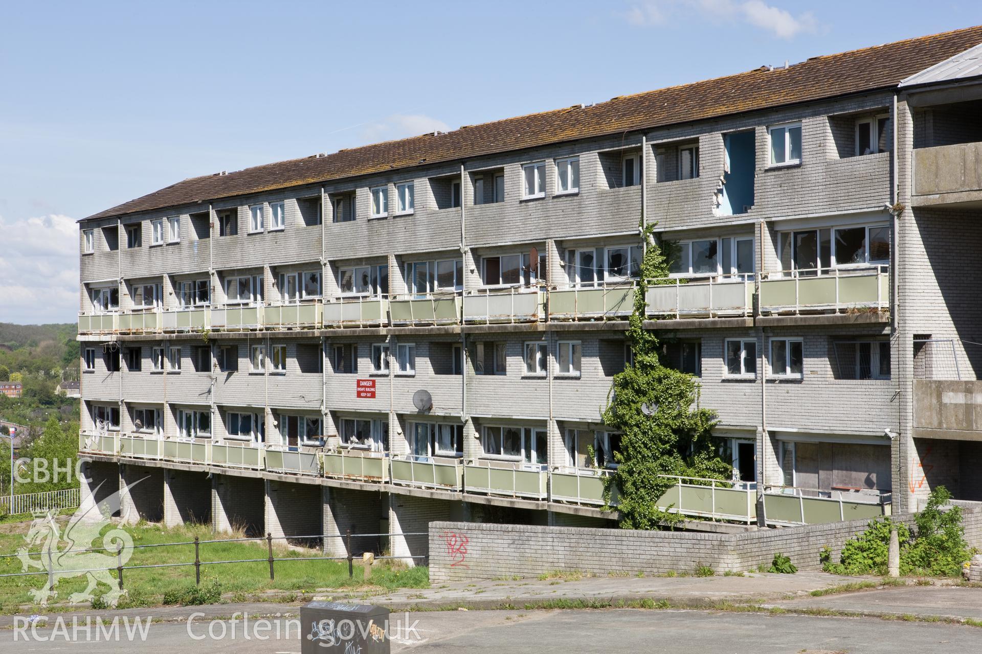
[{"label": "large white cloud low at left edge, beside the building's end", "polygon": [[79,313],[79,226],[59,214],[0,216],[0,321],[70,323]]}]

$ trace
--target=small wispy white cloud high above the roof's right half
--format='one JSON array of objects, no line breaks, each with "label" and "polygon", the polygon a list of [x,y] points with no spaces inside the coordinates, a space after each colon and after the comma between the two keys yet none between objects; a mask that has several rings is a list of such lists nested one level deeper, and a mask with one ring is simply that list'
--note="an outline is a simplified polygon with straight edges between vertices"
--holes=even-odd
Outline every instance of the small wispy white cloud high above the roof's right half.
[{"label": "small wispy white cloud high above the roof's right half", "polygon": [[811,12],[795,17],[763,0],[643,0],[632,4],[624,15],[632,25],[669,25],[674,19],[692,15],[713,22],[741,21],[785,39],[818,27]]}]

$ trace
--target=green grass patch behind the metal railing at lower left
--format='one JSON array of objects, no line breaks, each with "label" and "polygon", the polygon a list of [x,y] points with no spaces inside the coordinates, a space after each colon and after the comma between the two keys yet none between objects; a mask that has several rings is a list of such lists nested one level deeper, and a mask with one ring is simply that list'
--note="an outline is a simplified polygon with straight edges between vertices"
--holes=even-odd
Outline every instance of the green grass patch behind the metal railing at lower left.
[{"label": "green grass patch behind the metal railing at lower left", "polygon": [[[64,530],[65,524],[59,521],[59,527],[62,530]],[[14,553],[18,548],[23,547],[25,545],[24,534],[27,532],[28,526],[27,523],[6,525],[0,529],[0,554]],[[104,528],[103,532],[108,531],[108,529]],[[133,536],[135,545],[190,542],[193,541],[194,536],[198,536],[200,540],[230,537],[228,534],[213,534],[210,527],[200,525],[165,529],[156,525],[139,524],[135,527],[126,527],[125,530]],[[100,545],[99,539],[92,543],[93,547]],[[66,544],[61,544],[62,549],[66,547]],[[39,546],[32,548],[31,558],[37,559],[39,557],[38,550]],[[304,561],[305,558],[318,556],[319,552],[292,549],[274,541],[273,555],[276,558],[287,559],[286,561],[277,561],[274,564],[276,579],[269,579],[269,564],[266,561],[202,565],[201,586],[194,584],[193,566],[126,570],[124,587],[128,592],[128,597],[121,599],[120,606],[213,603],[223,596],[241,599],[256,593],[268,593],[268,591],[275,590],[291,591],[296,597],[304,594],[311,595],[314,591],[322,589],[384,592],[395,588],[429,587],[429,570],[425,567],[407,568],[393,561],[379,561],[372,566],[370,579],[363,579],[360,565],[355,565],[355,577],[349,578],[347,561]],[[104,556],[106,556],[104,565],[107,567],[115,566],[115,558],[110,559],[107,555]],[[200,545],[202,563],[265,559],[267,556],[265,540],[201,543]],[[193,544],[173,545],[170,547],[135,548],[133,558],[126,565],[159,565],[191,563],[193,561]],[[21,572],[20,559],[16,557],[0,559],[0,574]],[[113,579],[116,579],[115,571],[111,575]],[[3,598],[2,610],[7,613],[16,612],[19,605],[30,604],[33,600],[29,591],[41,587],[45,579],[44,575],[0,578],[0,597]],[[85,585],[83,577],[61,579],[56,587],[58,595],[53,602],[66,602],[69,595],[81,592]],[[96,598],[93,608],[99,605],[100,596],[106,590],[108,588],[105,584],[97,586],[95,593],[99,597]]]}]

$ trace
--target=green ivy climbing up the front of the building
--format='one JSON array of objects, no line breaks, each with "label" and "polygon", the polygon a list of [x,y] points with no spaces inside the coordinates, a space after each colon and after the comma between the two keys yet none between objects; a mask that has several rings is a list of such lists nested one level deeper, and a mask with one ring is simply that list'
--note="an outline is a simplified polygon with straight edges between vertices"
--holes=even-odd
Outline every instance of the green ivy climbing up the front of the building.
[{"label": "green ivy climbing up the front of the building", "polygon": [[[627,330],[633,363],[614,376],[603,411],[604,424],[622,433],[621,449],[614,453],[619,466],[607,480],[607,497],[616,484],[621,527],[629,529],[662,528],[682,520],[658,508],[658,499],[675,483],[663,475],[725,480],[732,475],[711,440],[716,414],[699,407],[698,380],[665,366],[658,339],[644,329],[647,286],[669,275],[666,253],[652,238],[654,227],[647,226],[642,234],[646,248]],[[642,405],[652,415],[645,415]]]}]

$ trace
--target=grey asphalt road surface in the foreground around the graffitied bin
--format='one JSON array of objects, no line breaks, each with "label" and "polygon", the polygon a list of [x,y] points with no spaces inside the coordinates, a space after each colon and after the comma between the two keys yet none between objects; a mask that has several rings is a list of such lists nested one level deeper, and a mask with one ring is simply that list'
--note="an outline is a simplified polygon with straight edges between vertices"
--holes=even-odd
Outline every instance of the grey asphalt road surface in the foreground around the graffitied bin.
[{"label": "grey asphalt road surface in the foreground around the graffitied bin", "polygon": [[[152,613],[151,613],[152,615]],[[401,617],[401,616],[400,616]],[[393,643],[393,652],[706,652],[791,654],[792,652],[978,652],[982,629],[942,623],[885,621],[878,618],[827,618],[707,611],[448,611],[409,614],[412,641]],[[68,626],[69,629],[71,626]],[[199,651],[284,654],[300,652],[300,637],[246,640],[242,624],[229,636],[230,624],[212,627],[226,637],[207,637],[208,623],[155,623],[145,641],[85,640],[68,642],[58,628],[35,634],[0,630],[0,651],[139,652]],[[253,630],[253,636],[255,632]],[[405,635],[405,634],[403,634]],[[38,640],[38,638],[49,638]],[[53,639],[50,639],[52,638]],[[15,638],[17,640],[15,641]],[[26,639],[27,638],[27,639]],[[94,638],[94,637],[93,637]]]}]

